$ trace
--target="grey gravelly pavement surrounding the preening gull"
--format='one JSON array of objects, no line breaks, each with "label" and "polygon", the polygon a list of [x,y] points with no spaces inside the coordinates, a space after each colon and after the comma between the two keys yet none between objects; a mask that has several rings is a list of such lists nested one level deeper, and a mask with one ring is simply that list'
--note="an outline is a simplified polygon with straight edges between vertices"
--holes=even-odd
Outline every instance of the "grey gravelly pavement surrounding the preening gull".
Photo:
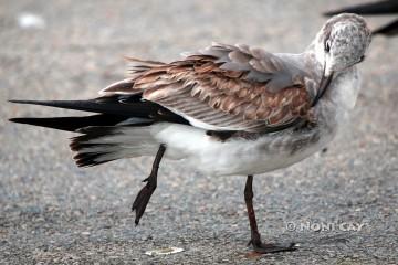
[{"label": "grey gravelly pavement surrounding the preening gull", "polygon": [[[326,153],[254,179],[263,237],[298,243],[293,253],[259,256],[247,247],[242,177],[164,162],[135,227],[129,208],[151,158],[78,169],[72,134],[7,121],[70,114],[6,99],[93,97],[123,77],[123,55],[170,61],[211,41],[300,52],[325,21],[322,11],[353,2],[362,1],[2,0],[0,263],[398,264],[397,39],[374,39],[350,124]],[[27,12],[43,21],[22,28]],[[364,226],[318,230],[328,223]],[[184,252],[145,255],[170,246]]]}]

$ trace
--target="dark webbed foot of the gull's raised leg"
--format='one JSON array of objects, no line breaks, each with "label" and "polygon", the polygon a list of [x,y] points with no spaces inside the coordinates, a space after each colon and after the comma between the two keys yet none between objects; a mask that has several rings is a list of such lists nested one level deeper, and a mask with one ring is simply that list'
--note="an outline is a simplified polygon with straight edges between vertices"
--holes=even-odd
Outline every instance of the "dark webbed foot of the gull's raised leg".
[{"label": "dark webbed foot of the gull's raised leg", "polygon": [[143,216],[146,206],[148,205],[149,199],[154,193],[157,180],[156,177],[149,176],[143,182],[147,182],[146,186],[138,192],[135,201],[133,202],[132,211],[136,211],[135,224],[138,225],[140,218]]}]

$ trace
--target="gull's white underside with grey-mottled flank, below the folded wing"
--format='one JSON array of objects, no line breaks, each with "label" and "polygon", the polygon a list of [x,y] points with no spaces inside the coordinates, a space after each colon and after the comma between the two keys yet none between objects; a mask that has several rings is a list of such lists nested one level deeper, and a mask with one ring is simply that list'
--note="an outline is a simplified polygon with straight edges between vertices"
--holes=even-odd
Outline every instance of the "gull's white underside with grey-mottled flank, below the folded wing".
[{"label": "gull's white underside with grey-mottled flank, below the folded wing", "polygon": [[[198,130],[193,136],[189,128],[185,129],[179,131],[179,142],[169,138],[169,157],[182,159],[187,166],[210,176],[259,174],[285,168],[321,150],[333,138],[333,131],[320,127],[228,141]],[[184,145],[180,139],[186,139]]]}]

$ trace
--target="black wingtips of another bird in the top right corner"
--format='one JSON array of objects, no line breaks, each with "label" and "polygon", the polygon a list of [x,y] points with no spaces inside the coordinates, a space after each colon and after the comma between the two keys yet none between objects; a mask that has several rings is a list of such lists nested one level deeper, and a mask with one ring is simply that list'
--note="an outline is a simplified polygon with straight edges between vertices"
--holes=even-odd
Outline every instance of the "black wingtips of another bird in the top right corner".
[{"label": "black wingtips of another bird in the top right corner", "polygon": [[[325,15],[335,15],[338,13],[356,13],[356,14],[370,14],[370,15],[385,15],[398,13],[397,0],[384,0],[378,2],[362,3],[353,7],[338,9],[335,11],[325,12]],[[386,36],[394,36],[398,34],[398,19],[385,24],[373,31],[373,34],[380,34]]]}]

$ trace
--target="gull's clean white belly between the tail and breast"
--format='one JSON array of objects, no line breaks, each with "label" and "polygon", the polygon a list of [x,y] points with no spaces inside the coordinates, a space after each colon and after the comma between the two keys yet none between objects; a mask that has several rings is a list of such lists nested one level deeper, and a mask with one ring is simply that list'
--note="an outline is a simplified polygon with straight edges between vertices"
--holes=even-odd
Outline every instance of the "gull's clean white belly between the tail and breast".
[{"label": "gull's clean white belly between the tail and breast", "polygon": [[318,151],[333,138],[332,134],[323,134],[316,141],[292,151],[280,145],[286,138],[283,135],[222,142],[191,126],[155,126],[154,130],[158,131],[155,138],[167,146],[166,158],[184,159],[187,166],[210,176],[258,174],[285,168]]}]

